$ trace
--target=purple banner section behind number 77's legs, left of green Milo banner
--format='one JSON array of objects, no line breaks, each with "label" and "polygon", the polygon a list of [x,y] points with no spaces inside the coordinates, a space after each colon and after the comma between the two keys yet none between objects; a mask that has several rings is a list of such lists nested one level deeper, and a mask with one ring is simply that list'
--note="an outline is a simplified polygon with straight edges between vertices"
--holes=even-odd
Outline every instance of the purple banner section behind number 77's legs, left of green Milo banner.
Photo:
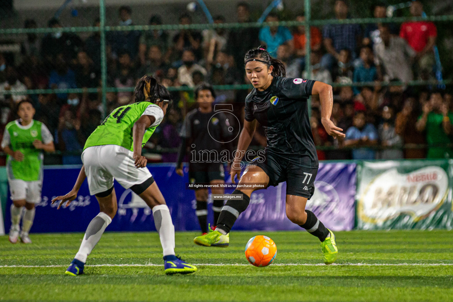
[{"label": "purple banner section behind number 77's legs, left of green Milo banner", "polygon": [[[355,219],[356,164],[320,163],[315,192],[306,209],[331,230],[352,230]],[[286,182],[252,193],[250,206],[233,230],[300,230],[286,217]]]}]

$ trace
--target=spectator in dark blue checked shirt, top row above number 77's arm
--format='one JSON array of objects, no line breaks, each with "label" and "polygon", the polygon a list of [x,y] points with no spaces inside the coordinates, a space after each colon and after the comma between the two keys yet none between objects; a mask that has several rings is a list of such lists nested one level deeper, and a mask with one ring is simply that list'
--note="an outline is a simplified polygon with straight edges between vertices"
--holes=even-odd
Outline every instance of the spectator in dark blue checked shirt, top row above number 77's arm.
[{"label": "spectator in dark blue checked shirt, top row above number 77's arm", "polygon": [[[349,7],[346,0],[336,0],[334,10],[337,19],[348,18]],[[358,41],[361,41],[360,24],[328,24],[324,26],[323,43],[328,53],[323,56],[321,65],[331,71],[343,48],[349,49],[352,59],[355,59]]]}]

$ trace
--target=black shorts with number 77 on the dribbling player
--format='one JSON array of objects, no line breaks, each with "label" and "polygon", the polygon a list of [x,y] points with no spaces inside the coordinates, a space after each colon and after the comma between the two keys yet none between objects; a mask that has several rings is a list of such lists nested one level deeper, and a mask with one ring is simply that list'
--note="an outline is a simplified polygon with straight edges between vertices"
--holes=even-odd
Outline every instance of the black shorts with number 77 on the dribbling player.
[{"label": "black shorts with number 77 on the dribbling player", "polygon": [[314,180],[318,174],[318,168],[306,168],[294,164],[288,159],[266,153],[263,163],[255,160],[251,164],[269,176],[269,186],[277,186],[280,182],[286,182],[286,194],[310,199],[314,193]]}]

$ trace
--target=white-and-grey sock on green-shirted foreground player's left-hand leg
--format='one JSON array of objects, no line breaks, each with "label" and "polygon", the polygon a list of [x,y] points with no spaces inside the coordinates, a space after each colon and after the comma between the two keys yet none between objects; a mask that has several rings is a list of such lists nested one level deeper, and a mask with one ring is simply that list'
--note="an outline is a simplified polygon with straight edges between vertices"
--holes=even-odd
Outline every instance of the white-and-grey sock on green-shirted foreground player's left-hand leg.
[{"label": "white-and-grey sock on green-shirted foreground player's left-hand leg", "polygon": [[96,244],[101,240],[102,233],[106,230],[107,225],[110,225],[112,219],[106,213],[101,212],[90,222],[87,231],[83,236],[82,244],[74,259],[87,262],[87,257],[94,249]]}]

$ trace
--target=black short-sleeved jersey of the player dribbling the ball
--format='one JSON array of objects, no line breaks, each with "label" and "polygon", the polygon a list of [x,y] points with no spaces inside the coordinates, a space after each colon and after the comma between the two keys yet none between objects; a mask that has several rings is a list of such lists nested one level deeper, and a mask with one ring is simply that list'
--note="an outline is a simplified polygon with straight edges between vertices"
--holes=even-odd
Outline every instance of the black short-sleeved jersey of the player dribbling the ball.
[{"label": "black short-sleeved jersey of the player dribbling the ball", "polygon": [[250,92],[245,107],[245,119],[265,128],[266,152],[307,168],[318,168],[307,108],[314,82],[274,77],[265,91]]}]

